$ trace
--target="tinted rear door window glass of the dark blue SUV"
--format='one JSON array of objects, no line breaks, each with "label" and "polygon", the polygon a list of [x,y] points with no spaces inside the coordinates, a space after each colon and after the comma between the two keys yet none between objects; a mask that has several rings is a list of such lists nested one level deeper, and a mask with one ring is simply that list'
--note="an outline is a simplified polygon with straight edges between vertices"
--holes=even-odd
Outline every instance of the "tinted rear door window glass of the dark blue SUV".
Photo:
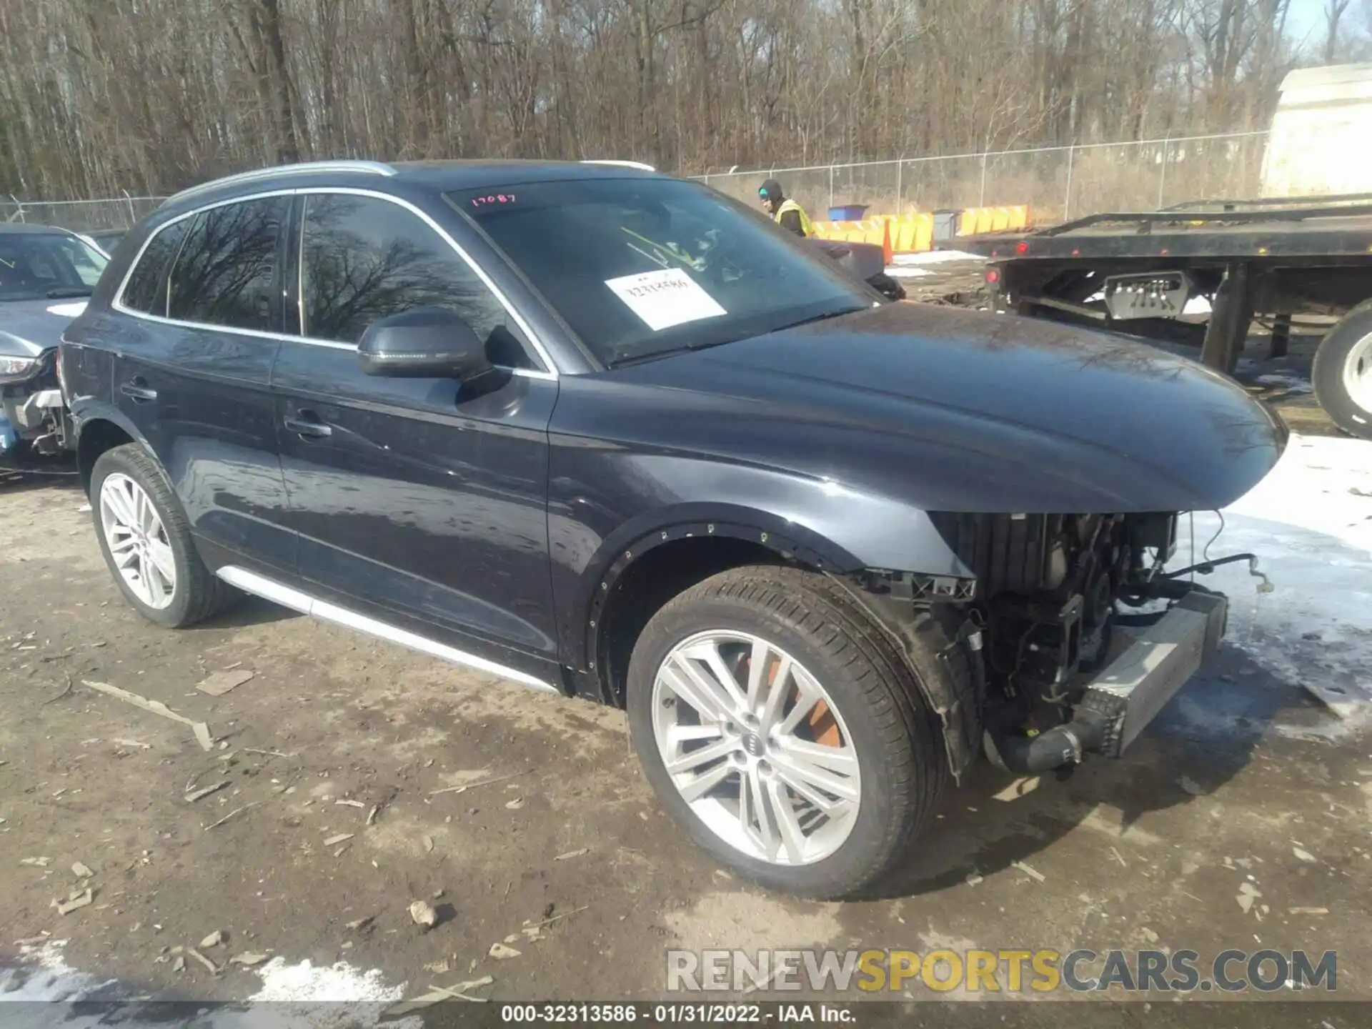
[{"label": "tinted rear door window glass of the dark blue SUV", "polygon": [[172,269],[167,317],[274,329],[277,248],[289,209],[289,198],[270,196],[198,214]]}]

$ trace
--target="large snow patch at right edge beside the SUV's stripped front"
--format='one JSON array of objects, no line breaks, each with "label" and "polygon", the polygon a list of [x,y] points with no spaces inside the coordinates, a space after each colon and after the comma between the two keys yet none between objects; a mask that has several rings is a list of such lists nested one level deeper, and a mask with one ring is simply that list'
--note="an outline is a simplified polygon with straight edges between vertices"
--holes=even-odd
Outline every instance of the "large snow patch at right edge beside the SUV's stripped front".
[{"label": "large snow patch at right edge beside the SUV's stripped front", "polygon": [[[1220,514],[1196,512],[1195,561],[1251,552],[1247,564],[1198,580],[1229,595],[1227,639],[1255,664],[1298,683],[1340,715],[1372,726],[1372,443],[1292,435],[1277,466]],[[1172,567],[1192,563],[1181,519]]]}]

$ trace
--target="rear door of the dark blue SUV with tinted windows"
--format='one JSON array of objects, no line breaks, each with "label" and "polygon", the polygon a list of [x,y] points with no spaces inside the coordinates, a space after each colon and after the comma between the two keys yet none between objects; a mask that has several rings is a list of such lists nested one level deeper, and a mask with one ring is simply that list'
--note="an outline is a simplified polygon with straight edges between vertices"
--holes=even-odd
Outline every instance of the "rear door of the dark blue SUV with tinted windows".
[{"label": "rear door of the dark blue SUV with tinted windows", "polygon": [[110,325],[114,401],[151,446],[215,563],[289,569],[294,534],[268,383],[289,196],[220,204],[154,235]]}]

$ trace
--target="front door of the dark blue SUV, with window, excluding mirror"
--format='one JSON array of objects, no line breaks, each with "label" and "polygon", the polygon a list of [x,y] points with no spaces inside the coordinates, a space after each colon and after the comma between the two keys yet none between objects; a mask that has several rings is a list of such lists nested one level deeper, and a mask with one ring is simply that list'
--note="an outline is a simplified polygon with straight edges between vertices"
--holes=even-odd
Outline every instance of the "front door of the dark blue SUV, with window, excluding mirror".
[{"label": "front door of the dark blue SUV, with window, excluding mirror", "polygon": [[[556,377],[466,261],[409,207],[375,195],[303,199],[302,339],[283,343],[273,373],[302,587],[390,612],[406,631],[488,660],[556,660]],[[362,373],[357,342],[372,321],[432,306],[456,310],[488,340],[504,365],[493,381]]]}]

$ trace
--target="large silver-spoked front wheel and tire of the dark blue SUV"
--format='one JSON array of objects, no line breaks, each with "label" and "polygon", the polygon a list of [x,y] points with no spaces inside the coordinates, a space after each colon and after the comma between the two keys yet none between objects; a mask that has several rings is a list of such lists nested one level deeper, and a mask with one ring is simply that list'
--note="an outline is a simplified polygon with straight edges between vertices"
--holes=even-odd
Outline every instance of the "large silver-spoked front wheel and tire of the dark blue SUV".
[{"label": "large silver-spoked front wheel and tire of the dark blue SUV", "polygon": [[794,568],[737,568],[664,605],[634,646],[627,707],[672,819],[786,893],[884,878],[948,778],[910,665],[841,587]]}]

